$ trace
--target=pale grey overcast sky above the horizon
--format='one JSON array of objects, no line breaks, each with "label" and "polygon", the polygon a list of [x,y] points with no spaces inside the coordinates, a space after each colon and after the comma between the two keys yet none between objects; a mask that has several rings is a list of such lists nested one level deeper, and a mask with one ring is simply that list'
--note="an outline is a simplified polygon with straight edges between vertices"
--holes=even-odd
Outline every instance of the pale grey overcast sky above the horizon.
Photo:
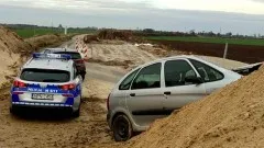
[{"label": "pale grey overcast sky above the horizon", "polygon": [[264,35],[264,0],[0,0],[0,23]]}]

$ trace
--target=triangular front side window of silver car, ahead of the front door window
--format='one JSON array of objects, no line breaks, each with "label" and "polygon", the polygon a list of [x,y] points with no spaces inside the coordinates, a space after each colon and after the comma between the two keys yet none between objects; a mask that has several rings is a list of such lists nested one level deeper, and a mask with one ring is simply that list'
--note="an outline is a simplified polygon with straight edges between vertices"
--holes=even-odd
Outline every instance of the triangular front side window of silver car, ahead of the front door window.
[{"label": "triangular front side window of silver car, ahead of the front door window", "polygon": [[194,67],[197,69],[197,71],[199,72],[199,75],[201,76],[205,82],[218,81],[224,78],[223,73],[221,73],[220,71],[218,71],[217,69],[210,66],[195,59],[189,59],[189,60],[194,65]]}]

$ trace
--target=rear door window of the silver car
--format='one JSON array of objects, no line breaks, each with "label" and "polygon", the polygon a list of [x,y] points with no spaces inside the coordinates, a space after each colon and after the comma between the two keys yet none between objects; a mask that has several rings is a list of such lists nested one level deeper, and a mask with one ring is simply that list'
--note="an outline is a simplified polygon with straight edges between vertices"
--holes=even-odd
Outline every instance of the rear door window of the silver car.
[{"label": "rear door window of the silver car", "polygon": [[131,89],[138,90],[161,88],[161,62],[142,68],[142,70],[135,77]]}]

